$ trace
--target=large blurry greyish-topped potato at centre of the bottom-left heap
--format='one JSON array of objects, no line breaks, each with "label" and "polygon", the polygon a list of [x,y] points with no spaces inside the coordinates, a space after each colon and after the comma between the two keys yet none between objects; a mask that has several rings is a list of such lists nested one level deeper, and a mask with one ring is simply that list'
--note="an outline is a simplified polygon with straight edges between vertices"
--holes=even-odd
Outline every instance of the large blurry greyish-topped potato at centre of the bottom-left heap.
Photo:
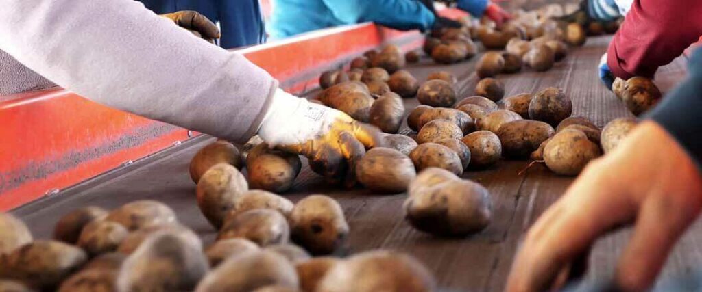
[{"label": "large blurry greyish-topped potato at centre of the bottom-left heap", "polygon": [[117,287],[119,291],[192,291],[208,270],[201,247],[164,232],[149,237],[124,260]]}]

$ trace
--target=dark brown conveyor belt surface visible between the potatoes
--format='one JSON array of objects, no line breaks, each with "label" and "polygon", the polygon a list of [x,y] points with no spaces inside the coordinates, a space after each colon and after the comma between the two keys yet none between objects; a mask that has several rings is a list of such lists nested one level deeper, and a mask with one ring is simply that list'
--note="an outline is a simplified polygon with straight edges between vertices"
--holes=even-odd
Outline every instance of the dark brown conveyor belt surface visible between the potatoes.
[{"label": "dark brown conveyor belt surface visible between the potatoes", "polygon": [[[557,86],[563,88],[573,100],[574,116],[586,116],[599,126],[604,126],[611,119],[630,115],[597,79],[597,62],[608,42],[609,36],[590,38],[585,46],[571,50],[564,61],[545,73],[527,69],[519,74],[498,76],[505,83],[505,96]],[[451,71],[458,78],[459,96],[467,97],[472,95],[477,82],[474,71],[477,60],[478,57],[474,57],[468,62],[439,66],[424,58],[420,64],[411,65],[409,71],[420,81],[424,81],[432,71]],[[668,91],[682,80],[684,64],[681,57],[659,70],[656,83],[661,90]],[[406,99],[405,104],[409,112],[417,102],[416,99]],[[405,128],[404,131],[408,130]],[[216,233],[197,208],[195,185],[187,174],[187,165],[192,155],[211,141],[211,137],[191,139],[85,181],[62,191],[60,195],[27,204],[13,213],[27,222],[36,237],[48,238],[55,221],[72,209],[86,205],[114,208],[133,200],[154,199],[173,207],[180,222],[198,232],[209,243]],[[555,176],[541,166],[529,169],[522,176],[517,175],[526,165],[526,161],[503,160],[492,169],[463,175],[466,179],[482,183],[491,191],[494,218],[483,232],[462,239],[440,239],[411,228],[403,218],[404,194],[373,195],[360,187],[340,190],[327,186],[306,165],[293,190],[284,195],[293,201],[311,193],[336,198],[343,205],[350,224],[350,253],[370,249],[404,251],[425,263],[434,272],[439,284],[448,291],[502,291],[524,231],[562,195],[573,180]],[[597,242],[590,258],[588,280],[602,279],[611,274],[616,256],[625,246],[629,234],[630,230],[620,230]],[[700,239],[702,225],[696,224],[669,258],[663,271],[664,277],[689,272],[702,264]]]}]

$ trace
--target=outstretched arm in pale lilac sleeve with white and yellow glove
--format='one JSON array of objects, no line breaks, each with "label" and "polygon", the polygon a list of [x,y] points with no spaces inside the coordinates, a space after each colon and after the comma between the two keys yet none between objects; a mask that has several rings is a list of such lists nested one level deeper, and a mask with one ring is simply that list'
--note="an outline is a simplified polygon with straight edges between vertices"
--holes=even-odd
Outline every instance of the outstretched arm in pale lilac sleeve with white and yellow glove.
[{"label": "outstretched arm in pale lilac sleeve with white and yellow glove", "polygon": [[376,128],[284,92],[243,55],[137,1],[6,1],[0,36],[0,50],[83,97],[230,141],[258,134],[328,179],[347,177],[359,151],[380,143]]}]

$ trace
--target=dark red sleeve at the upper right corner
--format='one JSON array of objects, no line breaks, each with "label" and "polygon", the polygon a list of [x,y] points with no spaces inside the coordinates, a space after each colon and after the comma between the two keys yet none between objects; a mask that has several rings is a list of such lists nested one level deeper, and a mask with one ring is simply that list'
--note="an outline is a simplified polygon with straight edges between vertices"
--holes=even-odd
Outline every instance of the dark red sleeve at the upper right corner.
[{"label": "dark red sleeve at the upper right corner", "polygon": [[652,78],[702,35],[702,1],[635,0],[607,49],[614,76]]}]

